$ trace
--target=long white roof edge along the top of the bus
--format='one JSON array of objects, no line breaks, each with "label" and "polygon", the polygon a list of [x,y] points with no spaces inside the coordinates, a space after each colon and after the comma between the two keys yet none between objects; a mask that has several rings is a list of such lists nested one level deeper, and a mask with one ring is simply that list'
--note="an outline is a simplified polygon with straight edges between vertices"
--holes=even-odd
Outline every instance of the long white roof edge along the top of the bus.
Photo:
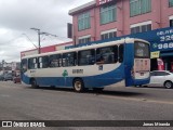
[{"label": "long white roof edge along the top of the bus", "polygon": [[119,44],[119,43],[132,43],[134,41],[142,41],[146,42],[149,44],[148,41],[143,40],[143,39],[136,39],[136,38],[125,38],[121,40],[116,40],[116,41],[109,41],[109,42],[103,42],[103,43],[97,43],[97,44],[91,44],[91,46],[84,46],[84,47],[79,47],[79,48],[71,48],[67,50],[61,50],[61,51],[54,51],[54,52],[48,52],[48,53],[41,53],[41,54],[34,54],[34,55],[27,55],[22,58],[29,58],[29,57],[37,57],[37,56],[45,56],[45,55],[53,55],[53,54],[61,54],[61,53],[67,53],[67,52],[75,52],[75,51],[82,51],[82,50],[88,50],[88,49],[96,49],[96,48],[102,48],[102,47],[109,47],[114,44]]}]

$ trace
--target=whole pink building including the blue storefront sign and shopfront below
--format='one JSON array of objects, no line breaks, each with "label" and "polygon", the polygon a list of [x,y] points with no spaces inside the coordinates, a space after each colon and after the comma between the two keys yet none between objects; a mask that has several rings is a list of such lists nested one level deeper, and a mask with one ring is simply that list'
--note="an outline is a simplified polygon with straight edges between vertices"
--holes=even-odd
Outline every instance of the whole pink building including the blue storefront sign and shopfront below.
[{"label": "whole pink building including the blue storefront sign and shopfront below", "polygon": [[94,0],[70,10],[69,15],[75,44],[143,38],[151,42],[151,51],[159,51],[164,69],[173,70],[173,0]]}]

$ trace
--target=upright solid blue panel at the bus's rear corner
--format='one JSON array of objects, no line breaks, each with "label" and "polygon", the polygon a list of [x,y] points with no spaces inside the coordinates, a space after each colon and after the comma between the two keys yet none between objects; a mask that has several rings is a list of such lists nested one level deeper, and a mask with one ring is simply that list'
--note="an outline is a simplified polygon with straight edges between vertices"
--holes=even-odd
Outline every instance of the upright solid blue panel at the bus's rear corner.
[{"label": "upright solid blue panel at the bus's rear corner", "polygon": [[132,70],[134,66],[134,44],[125,43],[124,50],[124,69],[125,69],[125,87],[134,86]]}]

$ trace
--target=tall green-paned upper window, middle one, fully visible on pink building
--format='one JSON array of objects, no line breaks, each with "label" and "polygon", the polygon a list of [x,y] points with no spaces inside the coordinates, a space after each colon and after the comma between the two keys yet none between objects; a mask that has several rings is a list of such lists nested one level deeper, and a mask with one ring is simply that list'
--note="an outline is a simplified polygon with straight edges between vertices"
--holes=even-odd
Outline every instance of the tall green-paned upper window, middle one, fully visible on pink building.
[{"label": "tall green-paned upper window, middle one, fully visible on pink building", "polygon": [[117,20],[116,4],[106,4],[101,8],[101,24],[107,24]]}]

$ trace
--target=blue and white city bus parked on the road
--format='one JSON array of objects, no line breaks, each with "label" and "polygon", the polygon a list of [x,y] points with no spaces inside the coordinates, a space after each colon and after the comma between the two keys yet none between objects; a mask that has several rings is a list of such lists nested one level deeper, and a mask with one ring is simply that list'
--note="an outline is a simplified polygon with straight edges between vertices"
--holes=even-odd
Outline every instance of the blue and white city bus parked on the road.
[{"label": "blue and white city bus parked on the road", "polygon": [[22,81],[32,87],[102,90],[123,82],[125,87],[148,83],[149,42],[122,39],[93,46],[22,57]]}]

